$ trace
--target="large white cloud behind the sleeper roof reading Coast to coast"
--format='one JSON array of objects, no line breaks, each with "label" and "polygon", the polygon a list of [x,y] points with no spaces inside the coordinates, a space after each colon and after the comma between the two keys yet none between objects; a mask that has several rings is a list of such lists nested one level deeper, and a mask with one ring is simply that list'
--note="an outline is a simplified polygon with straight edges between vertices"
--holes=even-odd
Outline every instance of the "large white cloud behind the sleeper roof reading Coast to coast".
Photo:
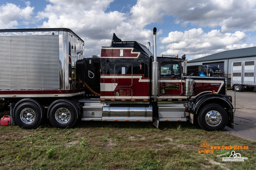
[{"label": "large white cloud behind the sleeper roof reading Coast to coast", "polygon": [[[39,27],[66,27],[72,29],[85,42],[86,57],[100,55],[102,46],[109,46],[113,33],[124,41],[147,44],[152,31],[130,23],[128,14],[118,11],[106,12],[113,0],[91,1],[49,0],[44,11],[36,18],[45,20]],[[88,8],[90,6],[90,8]]]}]

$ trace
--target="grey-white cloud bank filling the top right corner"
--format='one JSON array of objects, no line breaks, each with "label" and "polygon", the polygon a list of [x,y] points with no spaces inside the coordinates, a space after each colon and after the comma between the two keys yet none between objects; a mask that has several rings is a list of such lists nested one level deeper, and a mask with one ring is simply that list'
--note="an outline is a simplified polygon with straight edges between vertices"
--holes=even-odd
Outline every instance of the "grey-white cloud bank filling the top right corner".
[{"label": "grey-white cloud bank filling the top right corner", "polygon": [[231,30],[256,30],[255,0],[138,0],[131,9],[133,22],[144,27],[162,22],[164,16],[176,18],[176,24],[222,27]]}]

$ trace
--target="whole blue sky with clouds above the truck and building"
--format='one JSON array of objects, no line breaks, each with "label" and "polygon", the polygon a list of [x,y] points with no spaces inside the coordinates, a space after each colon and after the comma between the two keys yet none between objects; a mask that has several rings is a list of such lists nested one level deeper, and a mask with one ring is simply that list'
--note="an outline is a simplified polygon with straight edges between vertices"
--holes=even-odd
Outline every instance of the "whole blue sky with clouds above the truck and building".
[{"label": "whole blue sky with clouds above the truck and building", "polygon": [[[113,33],[188,60],[255,46],[255,0],[1,0],[0,29],[66,27],[100,55]],[[188,27],[189,26],[189,27]],[[189,30],[188,30],[189,28]]]}]

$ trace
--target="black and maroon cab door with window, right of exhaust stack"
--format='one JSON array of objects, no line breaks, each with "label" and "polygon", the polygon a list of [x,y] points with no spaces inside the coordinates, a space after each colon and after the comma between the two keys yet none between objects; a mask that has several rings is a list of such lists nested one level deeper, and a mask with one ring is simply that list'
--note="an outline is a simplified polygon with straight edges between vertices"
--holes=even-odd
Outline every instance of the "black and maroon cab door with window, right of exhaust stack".
[{"label": "black and maroon cab door with window, right of exhaust stack", "polygon": [[159,79],[160,96],[179,96],[182,94],[181,67],[179,62],[161,62]]}]

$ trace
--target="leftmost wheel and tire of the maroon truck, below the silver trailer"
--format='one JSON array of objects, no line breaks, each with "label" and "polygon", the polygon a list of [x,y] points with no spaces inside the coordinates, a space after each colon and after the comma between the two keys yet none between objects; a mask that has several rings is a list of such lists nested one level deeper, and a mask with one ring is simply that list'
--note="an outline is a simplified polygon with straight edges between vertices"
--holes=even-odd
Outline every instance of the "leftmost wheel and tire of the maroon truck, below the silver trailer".
[{"label": "leftmost wheel and tire of the maroon truck, below the silver trailer", "polygon": [[35,129],[42,122],[43,114],[33,102],[22,102],[14,110],[16,124],[24,129]]}]

